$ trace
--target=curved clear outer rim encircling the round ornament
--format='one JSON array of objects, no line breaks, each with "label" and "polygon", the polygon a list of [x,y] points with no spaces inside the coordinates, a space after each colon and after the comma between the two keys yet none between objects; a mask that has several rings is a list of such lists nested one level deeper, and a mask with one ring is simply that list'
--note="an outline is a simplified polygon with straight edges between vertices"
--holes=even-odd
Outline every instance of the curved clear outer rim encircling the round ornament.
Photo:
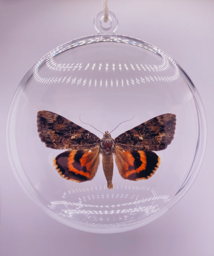
[{"label": "curved clear outer rim encircling the round ornament", "polygon": [[[76,223],[76,224],[72,223],[71,224],[70,221],[64,219],[63,217],[61,217],[59,215],[54,214],[50,209],[48,209],[47,207],[44,207],[44,205],[39,201],[36,191],[32,191],[32,187],[29,187],[29,185],[26,186],[26,184],[28,184],[29,180],[27,180],[27,182],[23,183],[23,179],[26,180],[26,178],[21,177],[20,174],[18,174],[16,172],[16,169],[22,168],[22,165],[18,158],[18,151],[17,151],[16,144],[15,144],[15,146],[11,147],[11,143],[10,143],[11,141],[13,141],[13,143],[16,141],[15,133],[12,129],[12,127],[15,127],[15,124],[16,124],[16,118],[15,118],[16,117],[15,110],[17,109],[15,107],[17,104],[16,98],[18,97],[19,91],[23,89],[23,85],[26,84],[26,82],[31,78],[35,68],[39,68],[46,61],[48,61],[55,55],[57,55],[63,51],[66,51],[68,49],[71,49],[71,48],[74,48],[74,47],[77,47],[80,45],[86,45],[89,43],[97,43],[97,42],[105,42],[105,41],[106,42],[127,43],[127,44],[131,44],[131,45],[139,46],[139,47],[142,47],[149,51],[152,51],[155,54],[161,55],[162,57],[166,57],[170,62],[176,64],[176,66],[178,66],[179,69],[182,71],[185,78],[189,81],[188,86],[194,96],[194,101],[196,104],[196,111],[198,114],[198,127],[199,127],[196,154],[194,156],[192,167],[190,169],[188,176],[186,177],[185,181],[183,182],[183,184],[181,185],[181,187],[179,188],[177,193],[175,193],[174,198],[171,200],[171,202],[166,207],[164,207],[163,209],[158,211],[157,213],[154,213],[154,215],[149,216],[148,219],[139,221],[139,223],[126,225],[125,227],[118,227],[116,229],[115,228],[93,228],[91,226],[87,227],[86,225],[82,225],[81,223]],[[202,166],[204,154],[206,151],[206,140],[207,140],[207,126],[206,126],[206,115],[205,115],[205,111],[204,111],[204,106],[202,104],[202,100],[199,96],[199,93],[198,93],[196,87],[194,86],[193,82],[191,81],[189,76],[186,74],[186,72],[177,64],[177,62],[173,58],[171,58],[169,55],[167,55],[167,53],[163,52],[161,49],[159,49],[145,41],[141,41],[140,39],[136,39],[136,38],[128,37],[128,36],[124,36],[124,35],[116,35],[116,34],[98,34],[98,35],[89,35],[86,37],[81,37],[79,39],[75,39],[73,41],[69,41],[63,45],[58,46],[57,48],[55,48],[52,51],[50,51],[49,53],[47,53],[44,57],[42,57],[29,70],[29,72],[26,73],[26,75],[21,80],[20,84],[18,85],[18,88],[16,89],[16,92],[14,94],[14,97],[13,97],[13,100],[12,100],[12,103],[10,106],[10,111],[8,114],[8,121],[7,121],[7,128],[6,128],[6,142],[7,142],[7,151],[8,151],[8,157],[10,160],[10,165],[12,167],[14,176],[16,177],[16,179],[18,180],[18,183],[24,189],[26,194],[31,199],[33,198],[34,199],[33,201],[37,205],[39,205],[53,219],[60,221],[61,223],[68,225],[70,227],[73,227],[75,229],[92,232],[92,233],[120,233],[120,232],[124,232],[124,231],[129,231],[132,229],[136,229],[136,228],[142,227],[143,225],[146,225],[146,224],[154,221],[155,219],[157,219],[158,217],[160,217],[161,215],[166,213],[169,209],[171,209],[171,207],[173,207],[185,195],[185,193],[190,189],[190,187],[194,183],[194,181],[198,175],[198,172],[200,171],[200,168]],[[16,163],[14,162],[14,158],[16,158],[16,160],[18,160],[18,166],[17,166],[17,162]],[[187,186],[187,184],[188,184],[188,186]]]}]

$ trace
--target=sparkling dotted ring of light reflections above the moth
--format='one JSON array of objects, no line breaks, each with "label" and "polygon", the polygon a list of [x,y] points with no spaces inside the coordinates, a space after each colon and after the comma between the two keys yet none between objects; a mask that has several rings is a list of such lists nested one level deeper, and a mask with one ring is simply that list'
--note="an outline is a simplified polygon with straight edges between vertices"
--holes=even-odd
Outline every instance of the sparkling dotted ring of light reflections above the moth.
[{"label": "sparkling dotted ring of light reflections above the moth", "polygon": [[[149,64],[149,63],[109,63],[109,62],[80,62],[80,63],[58,63],[55,60],[55,56],[59,53],[71,49],[74,47],[77,47],[79,45],[86,45],[94,42],[120,42],[125,44],[132,44],[136,45],[138,47],[141,47],[143,49],[148,49],[149,51],[152,51],[156,53],[157,55],[161,56],[161,63],[156,64]],[[171,65],[173,67],[173,74],[165,74],[163,72],[167,72],[170,70]],[[57,47],[54,51],[50,53],[50,56],[47,58],[47,61],[45,62],[45,66],[47,68],[47,71],[53,72],[55,71],[55,74],[51,76],[51,73],[49,77],[43,76],[42,74],[39,74],[39,68],[41,66],[41,61],[37,63],[35,66],[33,76],[34,79],[43,84],[52,84],[52,83],[71,83],[76,84],[78,86],[96,86],[97,83],[102,86],[102,79],[100,78],[94,78],[96,75],[95,73],[93,76],[90,76],[89,73],[84,74],[84,71],[99,71],[100,74],[103,74],[103,79],[105,80],[105,86],[130,86],[140,83],[150,83],[150,82],[173,82],[179,78],[179,68],[175,61],[171,59],[171,57],[167,56],[165,53],[163,53],[160,49],[157,49],[157,47],[148,45],[146,43],[143,43],[139,40],[131,39],[131,38],[124,38],[124,37],[105,37],[102,35],[99,35],[98,37],[91,37],[87,39],[78,39],[78,41],[69,42],[66,45]],[[111,68],[112,67],[112,68]],[[58,72],[58,73],[56,73]],[[69,73],[66,73],[69,72]],[[78,75],[78,72],[79,73]],[[103,73],[102,73],[103,72]],[[112,73],[113,72],[113,73]],[[118,72],[118,73],[116,73]],[[123,72],[121,74],[121,72]],[[60,76],[56,76],[56,74],[59,74]],[[149,74],[148,74],[149,73]],[[158,74],[161,73],[161,74]]]}]

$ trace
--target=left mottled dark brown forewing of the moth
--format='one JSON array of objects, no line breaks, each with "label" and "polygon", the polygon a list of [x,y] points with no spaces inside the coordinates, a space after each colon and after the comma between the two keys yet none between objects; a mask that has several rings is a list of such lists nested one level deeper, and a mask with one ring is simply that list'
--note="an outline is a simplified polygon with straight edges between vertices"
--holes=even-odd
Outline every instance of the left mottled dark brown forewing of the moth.
[{"label": "left mottled dark brown forewing of the moth", "polygon": [[37,113],[37,129],[41,141],[53,149],[76,150],[100,145],[100,138],[94,133],[51,111]]}]

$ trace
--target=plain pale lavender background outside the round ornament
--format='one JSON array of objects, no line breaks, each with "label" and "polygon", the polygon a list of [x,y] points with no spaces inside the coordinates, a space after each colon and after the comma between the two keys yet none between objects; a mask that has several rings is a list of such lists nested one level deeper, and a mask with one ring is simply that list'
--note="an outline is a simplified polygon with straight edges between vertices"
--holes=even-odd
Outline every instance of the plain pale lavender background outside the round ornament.
[{"label": "plain pale lavender background outside the round ornament", "polygon": [[51,49],[95,34],[101,0],[0,0],[1,178],[0,256],[213,256],[214,255],[214,2],[109,0],[118,34],[156,45],[188,73],[204,103],[208,145],[189,192],[152,223],[118,234],[78,231],[51,219],[25,195],[6,152],[6,120],[16,87]]}]

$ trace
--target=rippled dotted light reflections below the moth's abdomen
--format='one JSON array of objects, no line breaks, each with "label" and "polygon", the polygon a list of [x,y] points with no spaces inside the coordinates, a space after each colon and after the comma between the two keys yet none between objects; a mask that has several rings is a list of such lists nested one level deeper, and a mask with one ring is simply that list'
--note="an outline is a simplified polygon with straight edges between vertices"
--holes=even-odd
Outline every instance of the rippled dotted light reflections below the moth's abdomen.
[{"label": "rippled dotted light reflections below the moth's abdomen", "polygon": [[[87,195],[93,190],[94,194]],[[106,186],[100,186],[68,191],[63,194],[62,200],[52,201],[49,208],[74,221],[101,227],[121,226],[122,223],[134,223],[152,215],[170,200],[169,195],[157,195],[155,189],[150,187],[116,186],[110,193]]]}]

